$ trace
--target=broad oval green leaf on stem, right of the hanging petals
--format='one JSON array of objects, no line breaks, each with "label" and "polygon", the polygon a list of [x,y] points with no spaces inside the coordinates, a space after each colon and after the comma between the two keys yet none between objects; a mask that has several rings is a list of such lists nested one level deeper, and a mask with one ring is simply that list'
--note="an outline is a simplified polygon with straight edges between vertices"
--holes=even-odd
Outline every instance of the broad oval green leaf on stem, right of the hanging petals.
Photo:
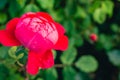
[{"label": "broad oval green leaf on stem, right of the hanging petals", "polygon": [[97,60],[90,55],[82,56],[75,63],[75,66],[84,72],[94,72],[98,68]]}]

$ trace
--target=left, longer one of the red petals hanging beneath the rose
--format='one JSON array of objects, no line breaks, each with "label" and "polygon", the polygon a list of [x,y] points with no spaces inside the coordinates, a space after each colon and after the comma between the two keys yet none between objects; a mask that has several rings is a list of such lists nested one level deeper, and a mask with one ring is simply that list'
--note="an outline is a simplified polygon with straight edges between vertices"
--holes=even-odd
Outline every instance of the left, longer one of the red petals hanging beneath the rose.
[{"label": "left, longer one of the red petals hanging beneath the rose", "polygon": [[36,54],[37,53],[33,51],[30,51],[28,53],[28,62],[27,62],[26,69],[27,69],[27,72],[32,75],[37,74],[39,70],[39,62]]}]

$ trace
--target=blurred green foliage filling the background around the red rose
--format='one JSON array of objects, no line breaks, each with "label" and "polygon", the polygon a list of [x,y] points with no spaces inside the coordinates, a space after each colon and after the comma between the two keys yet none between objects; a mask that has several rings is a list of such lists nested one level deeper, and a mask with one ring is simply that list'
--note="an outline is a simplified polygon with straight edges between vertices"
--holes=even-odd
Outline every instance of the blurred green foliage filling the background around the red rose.
[{"label": "blurred green foliage filling the background around the red rose", "polygon": [[[65,27],[69,37],[68,50],[53,50],[55,66],[36,76],[25,72],[27,49],[0,45],[0,80],[120,80],[119,8],[119,0],[0,0],[0,29],[25,12],[44,11]],[[98,36],[96,42],[90,40],[92,33]],[[95,55],[89,50],[95,50]],[[119,70],[116,79],[96,79],[101,51]]]}]

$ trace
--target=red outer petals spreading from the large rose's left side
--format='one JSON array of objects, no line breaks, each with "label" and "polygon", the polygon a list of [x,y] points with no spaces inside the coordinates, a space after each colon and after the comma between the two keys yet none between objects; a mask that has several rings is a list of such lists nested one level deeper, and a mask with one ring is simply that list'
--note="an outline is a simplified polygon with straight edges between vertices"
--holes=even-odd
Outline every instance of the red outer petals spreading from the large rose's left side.
[{"label": "red outer petals spreading from the large rose's left side", "polygon": [[0,43],[4,46],[18,46],[20,42],[16,39],[14,31],[19,18],[13,18],[7,23],[6,30],[0,30]]}]

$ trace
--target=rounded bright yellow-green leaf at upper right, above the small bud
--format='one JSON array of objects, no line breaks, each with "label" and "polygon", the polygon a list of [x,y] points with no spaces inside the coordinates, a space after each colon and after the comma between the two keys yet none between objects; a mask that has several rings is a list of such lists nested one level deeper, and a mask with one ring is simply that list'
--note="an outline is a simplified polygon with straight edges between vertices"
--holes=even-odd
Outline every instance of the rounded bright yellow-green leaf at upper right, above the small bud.
[{"label": "rounded bright yellow-green leaf at upper right, above the small bud", "polygon": [[93,19],[99,24],[102,24],[106,19],[106,14],[101,8],[97,8],[93,13]]}]

